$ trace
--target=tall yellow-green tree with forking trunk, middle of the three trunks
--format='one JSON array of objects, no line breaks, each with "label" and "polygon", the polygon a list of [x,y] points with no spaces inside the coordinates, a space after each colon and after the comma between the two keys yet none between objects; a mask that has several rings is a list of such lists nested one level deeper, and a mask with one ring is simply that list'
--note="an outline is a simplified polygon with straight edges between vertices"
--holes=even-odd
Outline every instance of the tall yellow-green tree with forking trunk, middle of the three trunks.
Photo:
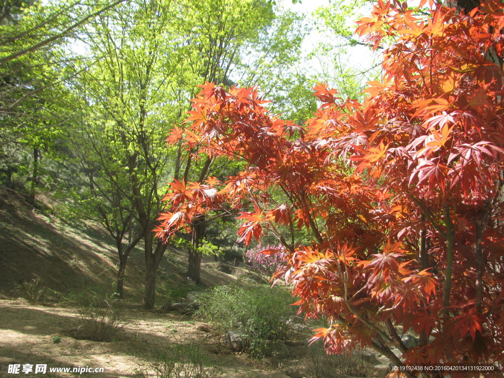
[{"label": "tall yellow-green tree with forking trunk, middle of the three trunks", "polygon": [[[117,12],[103,14],[88,31],[89,49],[99,59],[80,77],[84,106],[94,114],[85,121],[86,132],[99,141],[94,153],[100,175],[109,177],[107,193],[117,201],[99,199],[114,211],[130,206],[140,225],[133,239],[144,241],[144,308],[154,306],[156,271],[166,249],[151,230],[169,169],[162,157],[164,135],[180,114],[171,95],[177,93],[181,59],[172,22],[178,11],[172,2],[153,0],[123,3]],[[128,218],[124,213],[122,219]]]}]

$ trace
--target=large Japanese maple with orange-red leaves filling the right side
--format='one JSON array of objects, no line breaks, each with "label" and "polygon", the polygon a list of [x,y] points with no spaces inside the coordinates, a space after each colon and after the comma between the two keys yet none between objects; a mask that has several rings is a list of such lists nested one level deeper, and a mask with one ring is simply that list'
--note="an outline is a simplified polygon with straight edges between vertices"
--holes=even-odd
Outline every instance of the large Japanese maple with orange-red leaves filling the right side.
[{"label": "large Japanese maple with orange-red leaves filling the right side", "polygon": [[[411,364],[502,361],[504,90],[488,60],[501,54],[502,27],[498,2],[419,19],[380,0],[358,32],[393,38],[383,81],[363,104],[318,85],[323,104],[304,127],[271,116],[254,88],[205,84],[192,123],[168,140],[246,169],[223,184],[172,184],[158,236],[223,203],[252,204],[239,239],[265,228],[278,237],[288,256],[277,277],[300,312],[329,318],[314,338],[330,351],[396,345]],[[303,227],[308,245],[294,238]],[[409,330],[420,345],[407,349]]]}]

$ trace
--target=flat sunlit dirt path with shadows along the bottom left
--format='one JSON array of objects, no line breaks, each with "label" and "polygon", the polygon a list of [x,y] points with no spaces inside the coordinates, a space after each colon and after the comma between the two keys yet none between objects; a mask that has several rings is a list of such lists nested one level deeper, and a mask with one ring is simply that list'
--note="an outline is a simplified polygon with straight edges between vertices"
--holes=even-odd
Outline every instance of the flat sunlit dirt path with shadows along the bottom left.
[{"label": "flat sunlit dirt path with shadows along the bottom left", "polygon": [[[0,376],[1,377],[142,377],[139,372],[149,356],[173,342],[194,342],[201,353],[224,368],[225,378],[287,378],[273,369],[271,361],[261,361],[243,354],[232,354],[216,345],[203,331],[203,323],[190,318],[161,313],[128,311],[131,323],[116,341],[110,343],[77,340],[68,336],[79,327],[73,308],[30,305],[22,301],[0,300]],[[53,342],[59,337],[60,342]],[[57,340],[57,339],[56,339]],[[293,361],[294,363],[294,361]],[[10,364],[47,364],[46,374],[9,374]],[[103,367],[103,373],[50,373],[50,367]]]}]

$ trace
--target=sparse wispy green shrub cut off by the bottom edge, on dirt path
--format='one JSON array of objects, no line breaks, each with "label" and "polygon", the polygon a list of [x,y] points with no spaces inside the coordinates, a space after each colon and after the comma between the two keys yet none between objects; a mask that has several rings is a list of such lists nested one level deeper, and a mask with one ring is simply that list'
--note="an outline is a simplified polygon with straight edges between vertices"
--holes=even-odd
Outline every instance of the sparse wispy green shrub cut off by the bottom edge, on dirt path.
[{"label": "sparse wispy green shrub cut off by the bottom edge, on dirt path", "polygon": [[[144,369],[145,370],[145,369]],[[196,344],[175,344],[163,352],[149,356],[144,376],[156,378],[218,378],[222,368],[198,350]]]}]

